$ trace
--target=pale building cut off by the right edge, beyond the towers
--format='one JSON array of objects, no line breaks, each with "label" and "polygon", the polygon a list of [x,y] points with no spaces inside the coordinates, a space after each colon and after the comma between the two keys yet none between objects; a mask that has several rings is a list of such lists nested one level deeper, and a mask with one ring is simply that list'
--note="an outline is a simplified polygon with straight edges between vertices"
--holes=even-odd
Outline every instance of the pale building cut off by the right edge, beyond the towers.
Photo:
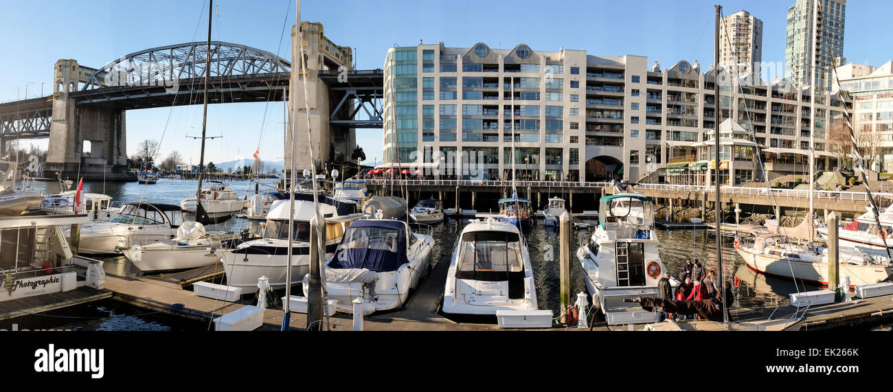
[{"label": "pale building cut off by the right edge, beyond the towers", "polygon": [[880,67],[848,63],[837,68],[840,88],[853,97],[857,142],[883,150],[874,171],[893,171],[893,62]]}]

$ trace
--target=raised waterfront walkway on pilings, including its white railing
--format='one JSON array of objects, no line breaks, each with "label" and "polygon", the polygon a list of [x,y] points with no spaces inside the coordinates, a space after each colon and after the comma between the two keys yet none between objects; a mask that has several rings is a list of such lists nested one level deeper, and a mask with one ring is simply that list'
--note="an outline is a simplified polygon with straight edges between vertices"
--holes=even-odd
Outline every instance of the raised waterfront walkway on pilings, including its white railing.
[{"label": "raised waterfront walkway on pilings, including its white railing", "polygon": [[[511,194],[512,181],[471,180],[471,179],[364,179],[368,188],[379,195],[389,195],[393,187],[395,195],[406,193],[413,199],[432,197],[444,201],[445,207],[463,206],[468,209],[495,209],[497,198]],[[549,196],[563,196],[569,209],[574,212],[598,209],[597,200],[601,196],[613,194],[613,186],[607,182],[581,181],[515,181],[518,196],[530,199],[536,208],[547,203]],[[638,184],[635,190],[642,192],[655,202],[671,205],[691,205],[714,208],[716,188],[697,185]],[[722,209],[730,210],[740,205],[778,205],[776,213],[784,209],[804,211],[809,208],[809,190],[780,188],[720,187]],[[893,193],[872,193],[878,205],[893,204]],[[448,202],[447,202],[448,200]],[[456,202],[456,201],[459,202]],[[479,200],[482,203],[479,203]],[[574,201],[577,202],[576,208]],[[835,211],[847,216],[865,213],[869,205],[865,192],[815,190],[813,204],[819,216],[823,212]]]}]

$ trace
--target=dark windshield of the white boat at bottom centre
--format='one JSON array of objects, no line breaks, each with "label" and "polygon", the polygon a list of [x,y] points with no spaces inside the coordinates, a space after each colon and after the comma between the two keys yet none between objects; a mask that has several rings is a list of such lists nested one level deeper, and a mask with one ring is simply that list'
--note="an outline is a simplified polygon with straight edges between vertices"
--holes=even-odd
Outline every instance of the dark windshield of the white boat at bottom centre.
[{"label": "dark windshield of the white boat at bottom centre", "polygon": [[500,281],[510,272],[523,272],[524,262],[518,233],[473,231],[462,238],[456,278]]}]

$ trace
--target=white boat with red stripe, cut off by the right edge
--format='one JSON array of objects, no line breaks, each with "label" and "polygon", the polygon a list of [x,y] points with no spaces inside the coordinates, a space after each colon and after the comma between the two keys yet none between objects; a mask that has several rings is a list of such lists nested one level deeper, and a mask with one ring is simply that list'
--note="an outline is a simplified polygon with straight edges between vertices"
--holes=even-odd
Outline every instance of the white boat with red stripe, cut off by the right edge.
[{"label": "white boat with red stripe, cut off by the right edge", "polygon": [[[881,208],[879,218],[880,227],[871,211],[863,213],[846,226],[841,226],[838,230],[840,247],[889,259],[887,248],[893,248],[893,208]],[[828,238],[827,226],[816,226],[815,229],[821,238]]]}]

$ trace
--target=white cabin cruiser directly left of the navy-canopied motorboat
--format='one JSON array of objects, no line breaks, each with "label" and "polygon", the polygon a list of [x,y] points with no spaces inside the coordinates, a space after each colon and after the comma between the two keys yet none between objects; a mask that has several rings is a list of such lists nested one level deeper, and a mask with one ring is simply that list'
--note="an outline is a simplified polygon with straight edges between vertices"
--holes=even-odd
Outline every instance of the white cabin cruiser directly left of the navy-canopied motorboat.
[{"label": "white cabin cruiser directly left of the navy-canopied motorboat", "polygon": [[[356,204],[319,195],[320,212],[326,225],[326,257],[335,254],[345,229],[362,218]],[[288,216],[290,200],[273,203],[267,213],[263,238],[253,239],[223,253],[227,285],[245,293],[257,291],[257,279],[266,276],[273,289],[285,288],[288,269]],[[295,194],[295,222],[291,257],[291,281],[297,283],[309,270],[310,221],[316,216],[312,193]]]}]

